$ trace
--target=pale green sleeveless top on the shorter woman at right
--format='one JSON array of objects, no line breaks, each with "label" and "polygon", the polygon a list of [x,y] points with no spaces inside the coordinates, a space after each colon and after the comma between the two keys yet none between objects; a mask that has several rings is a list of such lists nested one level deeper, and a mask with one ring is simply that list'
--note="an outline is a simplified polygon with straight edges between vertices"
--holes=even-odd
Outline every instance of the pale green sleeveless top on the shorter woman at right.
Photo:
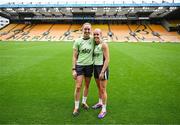
[{"label": "pale green sleeveless top on the shorter woman at right", "polygon": [[104,55],[102,50],[102,44],[95,45],[94,48],[94,65],[103,65]]}]

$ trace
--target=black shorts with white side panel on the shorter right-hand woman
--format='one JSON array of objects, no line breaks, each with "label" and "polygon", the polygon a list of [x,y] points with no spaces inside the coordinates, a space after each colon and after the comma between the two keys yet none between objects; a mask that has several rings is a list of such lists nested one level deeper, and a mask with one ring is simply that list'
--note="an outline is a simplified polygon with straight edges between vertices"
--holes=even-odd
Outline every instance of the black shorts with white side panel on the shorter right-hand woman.
[{"label": "black shorts with white side panel on the shorter right-hand woman", "polygon": [[[103,65],[94,65],[94,78],[99,79],[99,75],[101,73],[101,70],[103,68]],[[109,68],[107,68],[104,72],[104,80],[108,80],[109,78]]]}]

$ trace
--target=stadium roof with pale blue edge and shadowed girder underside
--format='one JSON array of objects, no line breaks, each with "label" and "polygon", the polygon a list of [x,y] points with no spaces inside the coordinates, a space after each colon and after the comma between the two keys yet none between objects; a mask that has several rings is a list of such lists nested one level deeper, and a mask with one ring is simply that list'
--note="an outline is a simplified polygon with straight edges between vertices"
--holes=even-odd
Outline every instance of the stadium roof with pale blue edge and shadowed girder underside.
[{"label": "stadium roof with pale blue edge and shadowed girder underside", "polygon": [[132,1],[127,3],[127,1],[122,1],[123,3],[112,1],[112,3],[106,3],[107,1],[104,3],[10,2],[0,5],[0,15],[17,20],[149,20],[163,18],[175,11],[177,13],[180,11],[180,2],[141,1],[137,3]]}]

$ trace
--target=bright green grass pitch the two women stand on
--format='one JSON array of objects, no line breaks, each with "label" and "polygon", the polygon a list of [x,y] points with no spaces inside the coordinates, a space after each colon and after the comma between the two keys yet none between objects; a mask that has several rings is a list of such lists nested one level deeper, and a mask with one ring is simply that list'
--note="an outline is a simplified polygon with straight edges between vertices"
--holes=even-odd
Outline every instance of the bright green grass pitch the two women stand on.
[{"label": "bright green grass pitch the two women stand on", "polygon": [[[72,116],[72,42],[0,42],[0,124],[180,124],[180,44],[109,43],[108,114]],[[92,79],[88,104],[98,100]]]}]

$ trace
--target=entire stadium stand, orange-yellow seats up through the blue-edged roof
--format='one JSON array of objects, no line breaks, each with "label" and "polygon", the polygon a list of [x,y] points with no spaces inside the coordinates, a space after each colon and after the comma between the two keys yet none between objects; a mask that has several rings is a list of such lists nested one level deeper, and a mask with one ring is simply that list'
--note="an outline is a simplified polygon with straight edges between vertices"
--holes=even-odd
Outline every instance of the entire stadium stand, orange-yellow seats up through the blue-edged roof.
[{"label": "entire stadium stand, orange-yellow seats up through the blue-edged roof", "polygon": [[[84,22],[115,42],[180,42],[180,3],[4,4],[3,41],[73,41]],[[172,18],[173,15],[173,18]],[[175,18],[174,18],[175,17]]]}]

